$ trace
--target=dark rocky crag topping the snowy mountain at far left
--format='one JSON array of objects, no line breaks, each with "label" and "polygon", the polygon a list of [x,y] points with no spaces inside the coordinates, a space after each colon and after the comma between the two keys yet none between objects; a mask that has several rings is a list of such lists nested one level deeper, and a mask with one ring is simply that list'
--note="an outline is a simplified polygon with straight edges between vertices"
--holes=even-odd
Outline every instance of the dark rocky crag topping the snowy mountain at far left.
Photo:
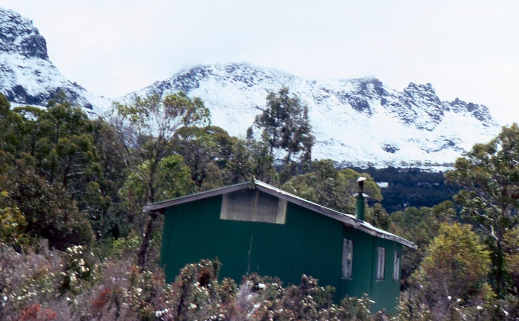
[{"label": "dark rocky crag topping the snowy mountain at far left", "polygon": [[3,8],[0,8],[0,51],[49,60],[47,42],[32,21]]}]

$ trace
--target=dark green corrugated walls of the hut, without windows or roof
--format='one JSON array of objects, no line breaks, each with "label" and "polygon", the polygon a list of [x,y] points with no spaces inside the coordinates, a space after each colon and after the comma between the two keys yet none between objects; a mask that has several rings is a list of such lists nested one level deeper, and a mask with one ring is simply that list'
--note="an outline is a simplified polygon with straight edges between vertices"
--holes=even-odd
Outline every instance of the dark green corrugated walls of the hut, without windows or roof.
[{"label": "dark green corrugated walls of the hut, without windows or roof", "polygon": [[[336,302],[367,293],[376,301],[374,311],[394,311],[400,284],[392,280],[393,251],[401,252],[401,244],[346,228],[290,202],[285,224],[221,220],[221,202],[220,195],[166,210],[161,265],[168,282],[184,265],[218,257],[221,278],[237,283],[248,272],[277,276],[285,285],[299,284],[307,274],[320,285],[334,286]],[[343,238],[354,241],[351,280],[341,279]],[[377,246],[386,247],[384,281],[375,281]]]}]

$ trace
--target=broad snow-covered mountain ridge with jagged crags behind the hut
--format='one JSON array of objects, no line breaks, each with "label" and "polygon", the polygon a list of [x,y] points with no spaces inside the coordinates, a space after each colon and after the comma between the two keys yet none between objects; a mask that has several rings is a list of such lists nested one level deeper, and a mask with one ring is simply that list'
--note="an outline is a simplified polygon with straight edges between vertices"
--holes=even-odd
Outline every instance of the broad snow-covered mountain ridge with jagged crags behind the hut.
[{"label": "broad snow-covered mountain ridge with jagged crags behind the hut", "polygon": [[431,84],[409,83],[399,92],[378,79],[317,81],[249,64],[190,68],[124,100],[183,90],[202,98],[214,125],[244,136],[265,108],[268,93],[282,86],[309,107],[313,157],[341,165],[441,169],[499,132],[487,107],[442,101]]}]

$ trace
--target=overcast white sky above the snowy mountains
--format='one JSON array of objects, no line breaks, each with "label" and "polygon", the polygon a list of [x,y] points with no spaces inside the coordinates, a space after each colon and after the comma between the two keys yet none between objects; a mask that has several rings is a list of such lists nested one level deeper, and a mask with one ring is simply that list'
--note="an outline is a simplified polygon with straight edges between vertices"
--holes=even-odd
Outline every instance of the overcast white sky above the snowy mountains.
[{"label": "overcast white sky above the snowy mountains", "polygon": [[117,97],[197,64],[373,76],[519,121],[519,1],[1,0],[33,20],[62,74]]}]

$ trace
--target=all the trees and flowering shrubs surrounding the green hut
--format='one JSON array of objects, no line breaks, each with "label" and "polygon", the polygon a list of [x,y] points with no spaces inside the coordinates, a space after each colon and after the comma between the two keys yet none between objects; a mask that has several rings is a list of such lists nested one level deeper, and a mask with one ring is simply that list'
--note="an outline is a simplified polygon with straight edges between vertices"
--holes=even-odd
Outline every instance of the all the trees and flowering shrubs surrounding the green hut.
[{"label": "all the trees and flowering shrubs surrounding the green hut", "polygon": [[[516,124],[453,159],[444,177],[420,179],[438,191],[415,191],[424,203],[398,200],[413,170],[360,173],[312,159],[308,110],[289,89],[266,97],[243,137],[211,125],[203,101],[182,92],[115,103],[97,119],[62,93],[46,109],[11,108],[0,94],[0,319],[519,317]],[[406,187],[389,206],[375,179],[391,175]],[[162,217],[144,214],[147,203],[255,178],[352,213],[359,176],[371,197],[366,220],[418,245],[403,255],[397,315],[370,311],[367,297],[334,304],[334,289],[311,275],[284,286],[276,275],[221,279],[212,258],[165,283]]]}]

